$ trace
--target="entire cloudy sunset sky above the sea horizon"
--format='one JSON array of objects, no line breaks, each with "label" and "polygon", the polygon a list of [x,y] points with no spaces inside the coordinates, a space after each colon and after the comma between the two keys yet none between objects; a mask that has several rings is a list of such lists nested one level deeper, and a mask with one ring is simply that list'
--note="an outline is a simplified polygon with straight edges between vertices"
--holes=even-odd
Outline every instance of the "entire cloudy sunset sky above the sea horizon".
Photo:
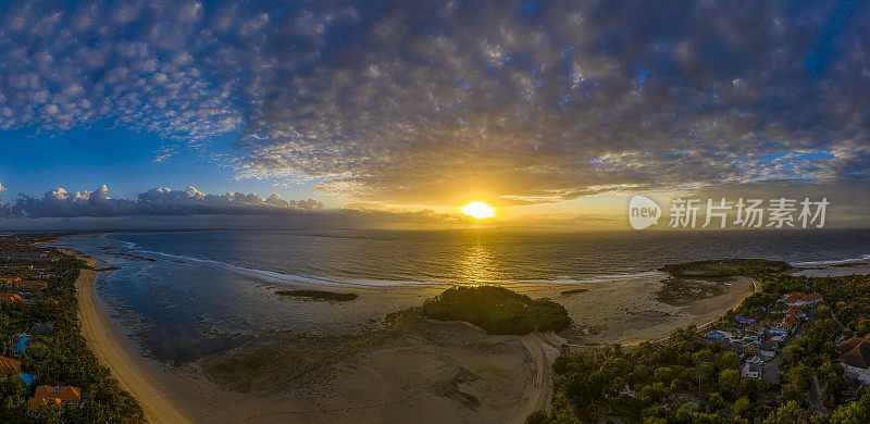
[{"label": "entire cloudy sunset sky above the sea horizon", "polygon": [[462,226],[484,200],[609,228],[637,194],[867,226],[869,25],[847,0],[0,2],[0,227]]}]

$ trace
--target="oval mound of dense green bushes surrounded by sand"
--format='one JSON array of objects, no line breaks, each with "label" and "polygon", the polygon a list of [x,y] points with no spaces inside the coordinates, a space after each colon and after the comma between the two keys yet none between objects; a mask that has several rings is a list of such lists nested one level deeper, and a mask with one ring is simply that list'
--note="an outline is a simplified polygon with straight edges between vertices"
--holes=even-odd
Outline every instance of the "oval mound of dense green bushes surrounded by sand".
[{"label": "oval mound of dense green bushes surrounded by sand", "polygon": [[500,286],[452,287],[423,304],[423,314],[442,321],[465,321],[489,334],[526,334],[564,329],[571,317],[549,299],[533,300]]}]

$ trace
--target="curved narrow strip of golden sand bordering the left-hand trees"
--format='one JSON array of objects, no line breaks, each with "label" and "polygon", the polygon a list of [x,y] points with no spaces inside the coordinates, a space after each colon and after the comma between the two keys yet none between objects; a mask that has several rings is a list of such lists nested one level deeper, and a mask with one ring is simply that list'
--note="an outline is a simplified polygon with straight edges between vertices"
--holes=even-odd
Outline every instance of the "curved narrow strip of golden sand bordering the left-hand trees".
[{"label": "curved narrow strip of golden sand bordering the left-hand trees", "polygon": [[[79,257],[88,265],[96,266],[95,259]],[[189,423],[175,404],[166,398],[147,377],[141,365],[119,342],[119,335],[112,332],[108,317],[100,309],[94,280],[97,272],[80,270],[75,282],[78,299],[78,315],[82,322],[82,335],[88,347],[108,366],[121,387],[133,394],[145,410],[146,419],[153,424]]]}]

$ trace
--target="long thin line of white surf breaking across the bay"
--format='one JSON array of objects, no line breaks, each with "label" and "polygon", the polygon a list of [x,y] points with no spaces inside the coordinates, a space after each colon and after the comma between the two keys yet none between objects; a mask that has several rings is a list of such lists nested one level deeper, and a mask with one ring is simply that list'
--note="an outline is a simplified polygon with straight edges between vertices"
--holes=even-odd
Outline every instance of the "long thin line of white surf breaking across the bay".
[{"label": "long thin line of white surf breaking across the bay", "polygon": [[617,279],[632,279],[663,275],[661,271],[648,271],[636,274],[620,274],[620,275],[601,275],[586,278],[571,278],[558,277],[551,279],[525,279],[525,280],[494,280],[494,282],[459,282],[449,279],[336,279],[318,277],[312,275],[287,274],[277,271],[260,270],[256,267],[243,266],[227,262],[215,261],[211,259],[194,258],[183,254],[172,254],[164,252],[157,252],[150,250],[136,250],[139,253],[157,254],[166,258],[172,258],[188,262],[208,263],[223,269],[253,274],[272,279],[277,279],[286,283],[303,283],[309,285],[319,286],[334,286],[334,285],[351,285],[351,286],[369,286],[369,287],[402,287],[402,286],[451,286],[451,285],[480,285],[480,284],[495,284],[495,285],[515,285],[515,284],[589,284]]}]

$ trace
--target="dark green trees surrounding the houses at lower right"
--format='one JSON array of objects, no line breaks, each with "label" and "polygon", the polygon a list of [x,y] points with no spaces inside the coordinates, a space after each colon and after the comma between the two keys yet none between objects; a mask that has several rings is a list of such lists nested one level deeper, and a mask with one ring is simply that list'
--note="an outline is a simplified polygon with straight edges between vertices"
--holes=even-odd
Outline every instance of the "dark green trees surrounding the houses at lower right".
[{"label": "dark green trees surrounding the houses at lower right", "polygon": [[[824,301],[808,310],[778,356],[776,383],[742,378],[739,366],[753,348],[723,347],[694,327],[663,342],[619,345],[566,353],[554,363],[552,410],[527,423],[867,423],[870,389],[844,377],[836,347],[870,334],[870,276],[806,277],[782,274],[769,261],[704,261],[671,265],[679,275],[704,272],[751,275],[761,291],[704,331],[741,328],[737,315],[756,322],[782,319],[776,300],[790,292],[819,292]],[[840,323],[843,325],[841,326]],[[739,329],[738,329],[739,331]],[[768,370],[766,370],[766,373]],[[808,392],[818,379],[819,404]]]}]

